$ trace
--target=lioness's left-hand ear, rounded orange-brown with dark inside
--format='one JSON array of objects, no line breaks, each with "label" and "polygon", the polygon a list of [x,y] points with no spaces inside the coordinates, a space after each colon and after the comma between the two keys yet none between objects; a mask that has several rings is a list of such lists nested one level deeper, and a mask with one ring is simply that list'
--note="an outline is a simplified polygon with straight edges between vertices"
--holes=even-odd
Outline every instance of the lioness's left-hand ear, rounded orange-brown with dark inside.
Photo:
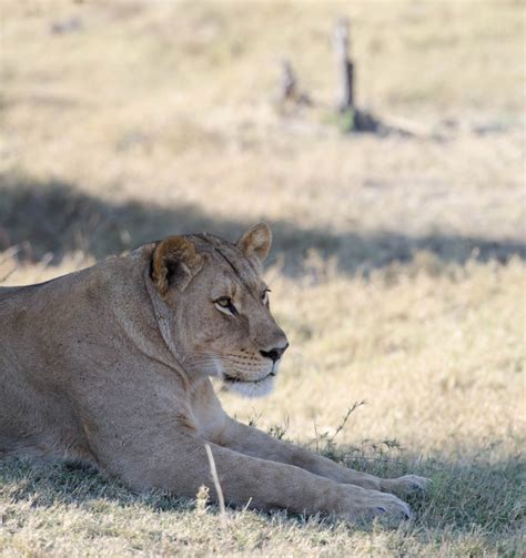
[{"label": "lioness's left-hand ear, rounded orange-brown with dark inside", "polygon": [[170,286],[184,291],[201,271],[204,258],[194,244],[184,236],[169,236],[160,242],[152,254],[151,278],[164,295]]}]

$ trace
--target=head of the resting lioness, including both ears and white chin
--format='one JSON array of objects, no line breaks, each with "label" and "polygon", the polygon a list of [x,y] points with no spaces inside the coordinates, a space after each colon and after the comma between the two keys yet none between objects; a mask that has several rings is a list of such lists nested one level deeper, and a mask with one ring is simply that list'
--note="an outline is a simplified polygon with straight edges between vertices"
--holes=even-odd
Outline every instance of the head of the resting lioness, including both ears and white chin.
[{"label": "head of the resting lioness, including both ears and white chin", "polygon": [[250,397],[272,389],[289,346],[260,277],[271,242],[264,223],[236,244],[210,234],[171,236],[151,260],[150,280],[183,367]]}]

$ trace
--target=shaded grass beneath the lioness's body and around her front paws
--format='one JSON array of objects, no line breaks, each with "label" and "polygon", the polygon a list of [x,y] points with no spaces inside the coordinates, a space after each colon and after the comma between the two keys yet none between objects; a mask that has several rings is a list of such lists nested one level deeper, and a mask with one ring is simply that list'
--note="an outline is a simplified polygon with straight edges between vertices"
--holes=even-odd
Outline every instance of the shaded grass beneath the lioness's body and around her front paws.
[{"label": "shaded grass beneath the lioness's body and around her front paws", "polygon": [[[345,448],[341,448],[345,453]],[[356,455],[355,455],[356,457]],[[424,538],[441,532],[462,536],[479,531],[488,541],[514,546],[525,519],[524,470],[519,456],[497,463],[463,458],[455,463],[444,457],[417,459],[403,454],[396,459],[361,460],[360,470],[383,477],[407,473],[427,476],[432,486],[425,497],[409,497],[415,519],[404,528]],[[34,464],[11,458],[0,461],[0,504],[30,504],[32,508],[75,506],[103,513],[105,506],[146,507],[155,511],[193,513],[195,503],[162,491],[135,494],[117,480],[105,479],[91,467],[71,463]],[[227,495],[226,495],[227,496]],[[292,516],[292,520],[300,520]],[[300,520],[302,524],[302,520]],[[360,523],[354,528],[372,531],[374,526]]]}]

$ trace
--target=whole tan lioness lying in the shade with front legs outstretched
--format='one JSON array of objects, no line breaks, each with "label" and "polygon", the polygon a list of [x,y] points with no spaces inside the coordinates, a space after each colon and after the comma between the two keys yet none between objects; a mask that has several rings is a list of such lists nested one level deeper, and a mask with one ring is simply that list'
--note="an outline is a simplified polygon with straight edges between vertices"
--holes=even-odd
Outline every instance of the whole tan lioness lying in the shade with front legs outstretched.
[{"label": "whole tan lioness lying in the shade with front legs outstretched", "polygon": [[0,288],[0,457],[68,457],[134,489],[193,497],[210,487],[210,444],[225,498],[260,509],[411,515],[376,478],[229,417],[210,377],[269,393],[289,343],[260,277],[261,223],[236,244],[171,236],[38,285]]}]

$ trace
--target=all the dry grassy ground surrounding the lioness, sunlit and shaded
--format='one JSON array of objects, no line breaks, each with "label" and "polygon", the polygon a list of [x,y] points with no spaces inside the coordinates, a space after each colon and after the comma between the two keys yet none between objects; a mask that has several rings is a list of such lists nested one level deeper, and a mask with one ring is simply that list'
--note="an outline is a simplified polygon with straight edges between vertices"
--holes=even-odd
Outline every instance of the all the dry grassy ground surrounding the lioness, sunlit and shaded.
[{"label": "all the dry grassy ground surrounding the lioness, sunlit and shaded", "polygon": [[[416,135],[343,135],[357,98]],[[134,495],[0,465],[0,556],[519,556],[525,509],[520,2],[0,7],[0,278],[44,281],[182,231],[265,219],[276,392],[226,408],[346,465],[433,479],[398,528]],[[279,106],[281,57],[314,105]],[[357,406],[342,429],[347,410]]]}]

